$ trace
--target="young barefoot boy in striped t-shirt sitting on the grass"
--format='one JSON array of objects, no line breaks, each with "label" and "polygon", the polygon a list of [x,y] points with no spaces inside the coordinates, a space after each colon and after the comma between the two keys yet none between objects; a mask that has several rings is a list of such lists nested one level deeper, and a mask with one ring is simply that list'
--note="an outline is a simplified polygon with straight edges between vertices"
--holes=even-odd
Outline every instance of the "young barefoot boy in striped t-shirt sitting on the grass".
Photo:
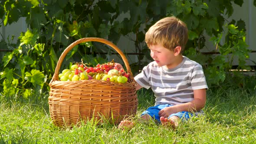
[{"label": "young barefoot boy in striped t-shirt sitting on the grass", "polygon": [[[145,42],[154,62],[135,76],[137,90],[151,88],[155,105],[141,114],[145,121],[156,120],[177,128],[179,119],[198,115],[206,102],[208,89],[200,64],[182,56],[187,43],[187,26],[174,16],[159,20],[150,27]],[[132,121],[121,121],[120,127],[131,127]]]}]

